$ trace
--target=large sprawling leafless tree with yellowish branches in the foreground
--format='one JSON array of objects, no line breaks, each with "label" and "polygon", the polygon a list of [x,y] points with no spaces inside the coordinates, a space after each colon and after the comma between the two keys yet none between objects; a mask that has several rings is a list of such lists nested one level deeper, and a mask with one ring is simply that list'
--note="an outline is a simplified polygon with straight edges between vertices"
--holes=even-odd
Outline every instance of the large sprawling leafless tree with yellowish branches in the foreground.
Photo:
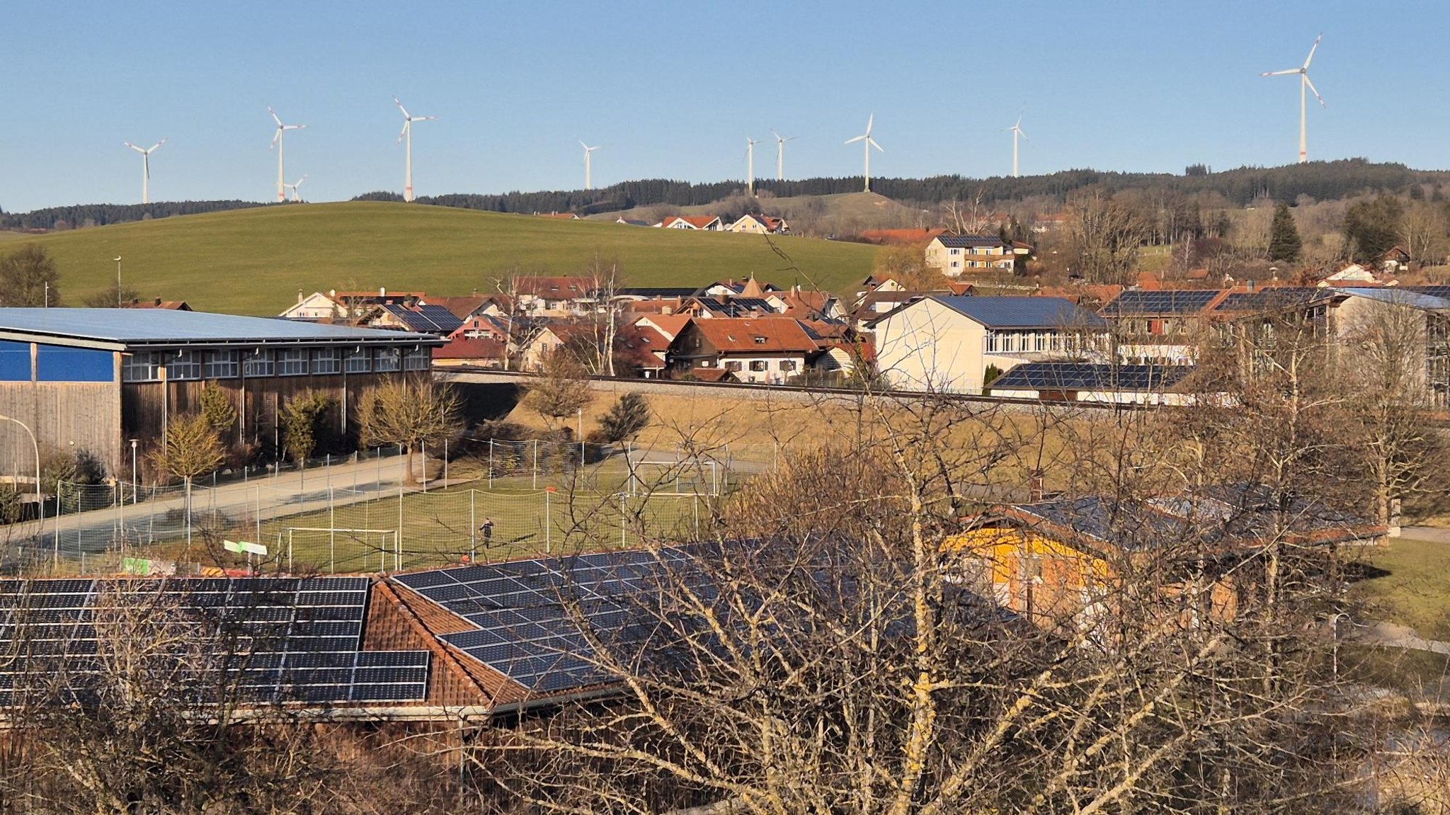
[{"label": "large sprawling leafless tree with yellowish branches in the foreground", "polygon": [[[473,757],[506,796],[579,814],[779,815],[1299,812],[1354,799],[1346,764],[1372,738],[1343,724],[1344,698],[1305,634],[1327,590],[1328,571],[1311,566],[1324,553],[1293,550],[1301,580],[1269,592],[1266,547],[1222,545],[1221,518],[1143,526],[1132,493],[1177,473],[1132,451],[1163,444],[1170,425],[1099,419],[1103,445],[1074,458],[1051,412],[864,409],[890,432],[796,452],[748,481],[709,539],[654,544],[647,587],[612,597],[626,608],[608,624],[584,593],[561,593],[586,645],[571,654],[592,654],[618,693],[493,731]],[[1027,463],[1089,470],[1114,544],[1098,544],[1076,605],[1009,613],[974,582],[996,522],[958,532],[973,487],[1022,479]],[[1290,634],[1301,647],[1267,663]]]}]

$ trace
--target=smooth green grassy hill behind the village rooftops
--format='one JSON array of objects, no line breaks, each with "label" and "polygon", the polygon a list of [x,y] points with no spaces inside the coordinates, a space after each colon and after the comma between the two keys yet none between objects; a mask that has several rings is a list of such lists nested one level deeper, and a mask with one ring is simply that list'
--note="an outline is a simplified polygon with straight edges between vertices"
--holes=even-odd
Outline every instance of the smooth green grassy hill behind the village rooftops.
[{"label": "smooth green grassy hill behind the village rooftops", "polygon": [[[751,273],[779,286],[796,283],[760,236],[400,203],[245,209],[26,239],[55,258],[67,303],[110,286],[112,258],[120,255],[125,284],[142,297],[244,315],[278,313],[296,302],[299,289],[484,291],[515,265],[568,274],[596,255],[618,260],[631,286],[697,286]],[[877,252],[811,238],[779,238],[777,245],[805,273],[800,284],[813,280],[837,293],[854,291]]]}]

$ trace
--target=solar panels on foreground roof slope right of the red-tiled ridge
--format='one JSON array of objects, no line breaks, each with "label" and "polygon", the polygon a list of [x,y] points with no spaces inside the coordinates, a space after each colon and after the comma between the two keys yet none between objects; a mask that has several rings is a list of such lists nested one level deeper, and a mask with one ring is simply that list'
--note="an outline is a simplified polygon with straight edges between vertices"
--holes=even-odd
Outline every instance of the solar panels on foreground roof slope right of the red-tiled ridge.
[{"label": "solar panels on foreground roof slope right of the red-tiled ridge", "polygon": [[[555,693],[618,679],[590,637],[626,642],[644,637],[635,605],[667,574],[705,597],[709,582],[689,576],[689,555],[602,553],[439,568],[392,577],[476,626],[439,640],[535,693]],[[587,631],[587,637],[586,637]]]}]

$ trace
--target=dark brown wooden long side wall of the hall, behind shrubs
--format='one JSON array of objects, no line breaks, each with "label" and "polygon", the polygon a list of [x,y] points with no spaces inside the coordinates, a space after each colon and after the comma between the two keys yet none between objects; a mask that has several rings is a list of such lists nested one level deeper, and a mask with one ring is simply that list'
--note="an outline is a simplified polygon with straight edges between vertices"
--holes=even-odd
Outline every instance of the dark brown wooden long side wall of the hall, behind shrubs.
[{"label": "dark brown wooden long side wall of the hall, behind shrubs", "polygon": [[[326,445],[349,445],[355,439],[351,423],[351,406],[358,394],[380,380],[397,374],[334,374],[302,377],[255,377],[222,380],[183,381],[133,381],[123,383],[122,392],[122,435],[139,441],[142,450],[160,444],[165,416],[200,410],[199,397],[207,384],[216,384],[232,400],[238,422],[232,428],[232,441],[238,445],[255,445],[274,450],[277,441],[277,408],[307,390],[329,396],[334,408],[328,416],[332,439],[319,439]],[[129,442],[128,442],[129,445]],[[319,447],[319,452],[322,452]]]}]

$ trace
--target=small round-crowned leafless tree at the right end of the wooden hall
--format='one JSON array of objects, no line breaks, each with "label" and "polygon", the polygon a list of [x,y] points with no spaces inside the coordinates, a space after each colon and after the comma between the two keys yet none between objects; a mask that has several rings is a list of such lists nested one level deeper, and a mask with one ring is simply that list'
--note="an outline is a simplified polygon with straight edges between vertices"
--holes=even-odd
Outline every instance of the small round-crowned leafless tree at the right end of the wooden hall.
[{"label": "small round-crowned leafless tree at the right end of the wooden hall", "polygon": [[[403,481],[413,484],[413,448],[455,439],[463,431],[458,393],[428,376],[399,377],[362,392],[357,399],[358,441],[403,448]],[[426,463],[425,463],[426,467]]]}]

